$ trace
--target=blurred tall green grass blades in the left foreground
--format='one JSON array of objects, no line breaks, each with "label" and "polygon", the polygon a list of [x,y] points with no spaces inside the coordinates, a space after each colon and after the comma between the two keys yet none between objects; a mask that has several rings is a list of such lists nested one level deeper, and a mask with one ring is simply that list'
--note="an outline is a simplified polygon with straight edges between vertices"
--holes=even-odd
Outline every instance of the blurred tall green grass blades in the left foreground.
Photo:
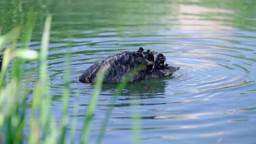
[{"label": "blurred tall green grass blades in the left foreground", "polygon": [[[0,36],[0,51],[5,47],[3,55],[3,63],[0,72],[0,143],[4,144],[20,144],[27,142],[28,144],[74,144],[82,143],[86,144],[89,139],[91,132],[91,122],[94,114],[94,110],[97,106],[98,96],[101,92],[102,82],[104,80],[104,72],[100,72],[96,83],[94,85],[94,93],[91,97],[91,102],[88,106],[86,116],[84,117],[84,126],[82,128],[82,135],[79,140],[75,140],[76,134],[76,117],[73,119],[73,125],[71,128],[71,138],[67,141],[69,135],[67,135],[67,124],[68,119],[68,103],[69,103],[69,57],[67,54],[67,67],[65,68],[64,76],[64,93],[63,98],[63,114],[61,126],[56,125],[55,117],[51,113],[51,96],[50,96],[50,85],[49,77],[47,74],[47,56],[48,56],[48,45],[50,39],[52,16],[46,17],[44,32],[41,41],[40,53],[34,50],[29,50],[29,43],[32,37],[32,32],[36,22],[36,15],[30,11],[27,19],[27,24],[23,35],[21,36],[21,43],[24,44],[18,50],[16,45],[18,43],[18,37],[20,34],[20,27],[14,28],[8,34]],[[7,80],[7,68],[11,60],[15,59],[12,67],[11,80]],[[27,114],[26,96],[29,94],[28,83],[30,75],[23,77],[24,67],[23,65],[27,60],[39,60],[40,66],[38,68],[38,80],[33,90],[33,100],[31,103],[31,113]],[[31,73],[31,70],[29,71]],[[132,75],[132,72],[125,81],[117,86],[117,91],[114,94],[113,99],[110,101],[111,104],[115,104],[116,99],[121,94],[121,91],[128,83]],[[25,82],[24,82],[25,81]],[[106,116],[102,122],[101,131],[97,138],[97,144],[102,143],[103,134],[106,130],[108,120],[110,118],[113,106],[110,106],[106,112]],[[76,115],[78,106],[75,107],[74,114]],[[139,115],[138,109],[133,108],[135,111],[132,116],[137,117]],[[30,116],[28,131],[25,132],[26,118]],[[132,118],[133,120],[133,118]],[[133,143],[140,143],[140,126],[138,118],[133,120],[134,139]],[[137,126],[137,127],[135,127]],[[27,129],[26,129],[27,130]],[[25,137],[25,134],[29,134]]]}]

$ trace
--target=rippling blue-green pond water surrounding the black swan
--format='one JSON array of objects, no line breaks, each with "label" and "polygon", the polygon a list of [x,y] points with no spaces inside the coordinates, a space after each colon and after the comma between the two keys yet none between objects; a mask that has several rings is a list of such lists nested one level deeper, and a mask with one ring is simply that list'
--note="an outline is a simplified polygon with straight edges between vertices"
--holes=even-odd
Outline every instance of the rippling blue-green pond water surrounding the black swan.
[{"label": "rippling blue-green pond water surrounding the black swan", "polygon": [[[29,5],[29,0],[1,0],[3,33],[24,24]],[[142,118],[143,144],[256,143],[256,1],[52,0],[35,7],[32,49],[40,48],[46,14],[53,14],[48,64],[57,119],[65,54],[72,53],[69,118],[78,104],[76,138],[93,93],[93,85],[78,77],[101,58],[142,46],[181,68],[173,78],[128,84],[115,103],[104,144],[132,142],[131,104],[138,105]],[[103,85],[89,144],[98,136],[116,86]]]}]

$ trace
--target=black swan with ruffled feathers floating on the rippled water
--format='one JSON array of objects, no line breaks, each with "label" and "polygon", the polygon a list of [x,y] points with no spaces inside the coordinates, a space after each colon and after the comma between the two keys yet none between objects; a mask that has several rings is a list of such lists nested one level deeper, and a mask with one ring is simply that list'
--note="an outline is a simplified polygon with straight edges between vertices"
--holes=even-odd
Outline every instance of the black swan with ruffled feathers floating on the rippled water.
[{"label": "black swan with ruffled feathers floating on the rippled water", "polygon": [[163,54],[150,50],[144,51],[140,47],[135,52],[122,52],[101,59],[83,72],[79,81],[94,83],[98,72],[104,70],[106,72],[104,83],[121,83],[128,73],[137,69],[139,64],[143,64],[143,69],[131,77],[130,83],[172,76],[180,67],[168,66],[165,60]]}]

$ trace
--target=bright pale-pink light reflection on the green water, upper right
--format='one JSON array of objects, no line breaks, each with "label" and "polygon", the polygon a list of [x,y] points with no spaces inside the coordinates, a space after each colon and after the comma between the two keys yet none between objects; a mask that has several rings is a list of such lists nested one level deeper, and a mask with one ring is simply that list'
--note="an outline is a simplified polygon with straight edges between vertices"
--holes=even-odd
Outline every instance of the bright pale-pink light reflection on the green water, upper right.
[{"label": "bright pale-pink light reflection on the green water, upper right", "polygon": [[[229,9],[216,9],[205,8],[197,5],[179,5],[179,14],[177,15],[180,25],[175,27],[181,30],[233,30],[231,22],[224,21],[232,19],[232,15],[235,14],[233,10]],[[209,17],[201,17],[201,15],[209,15]],[[225,14],[226,16],[219,16],[219,14]],[[220,21],[218,19],[224,19]]]}]

